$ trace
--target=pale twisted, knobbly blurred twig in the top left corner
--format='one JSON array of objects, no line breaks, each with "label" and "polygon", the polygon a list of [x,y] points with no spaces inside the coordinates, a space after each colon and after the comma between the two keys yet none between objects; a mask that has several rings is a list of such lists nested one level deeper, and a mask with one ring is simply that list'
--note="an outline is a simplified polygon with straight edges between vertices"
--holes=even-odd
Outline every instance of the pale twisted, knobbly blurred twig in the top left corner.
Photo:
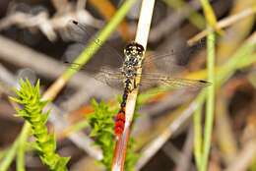
[{"label": "pale twisted, knobbly blurred twig in the top left corner", "polygon": [[[101,28],[103,25],[102,21],[96,20],[87,11],[76,9],[76,6],[71,2],[54,1],[53,3],[56,9],[60,11],[57,11],[52,18],[49,18],[49,14],[45,11],[37,15],[23,12],[10,13],[10,15],[0,20],[0,29],[8,28],[12,25],[17,25],[21,28],[38,28],[49,40],[54,41],[57,38],[55,30],[66,28],[67,22],[71,19],[81,21],[95,28]],[[59,7],[60,5],[62,8]]]}]

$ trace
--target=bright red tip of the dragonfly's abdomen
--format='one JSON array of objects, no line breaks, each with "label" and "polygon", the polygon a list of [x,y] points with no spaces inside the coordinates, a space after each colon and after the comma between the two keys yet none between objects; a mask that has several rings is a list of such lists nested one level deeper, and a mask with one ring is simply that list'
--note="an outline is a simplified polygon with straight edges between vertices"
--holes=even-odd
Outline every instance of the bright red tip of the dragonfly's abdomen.
[{"label": "bright red tip of the dragonfly's abdomen", "polygon": [[123,133],[125,125],[125,108],[121,108],[115,119],[114,132],[117,138]]}]

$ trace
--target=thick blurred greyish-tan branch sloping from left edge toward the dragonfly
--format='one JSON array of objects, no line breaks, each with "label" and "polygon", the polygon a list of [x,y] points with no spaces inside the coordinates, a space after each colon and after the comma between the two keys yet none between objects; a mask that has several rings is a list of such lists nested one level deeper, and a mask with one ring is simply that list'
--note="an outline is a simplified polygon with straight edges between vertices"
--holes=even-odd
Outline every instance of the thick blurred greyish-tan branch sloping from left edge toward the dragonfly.
[{"label": "thick blurred greyish-tan branch sloping from left edge toward the dragonfly", "polygon": [[[63,63],[60,63],[47,55],[38,53],[30,47],[5,38],[4,36],[0,36],[0,44],[0,59],[19,67],[29,67],[35,71],[35,73],[51,80],[58,78],[67,69],[67,66]],[[108,86],[98,85],[98,81],[82,73],[78,73],[74,76],[68,85],[81,87],[81,83],[90,83],[83,84],[83,89],[87,88],[89,96],[94,94],[98,97],[109,97],[109,95],[104,96],[103,94],[105,94],[105,91],[111,92],[112,90]],[[92,87],[92,85],[94,86]]]}]

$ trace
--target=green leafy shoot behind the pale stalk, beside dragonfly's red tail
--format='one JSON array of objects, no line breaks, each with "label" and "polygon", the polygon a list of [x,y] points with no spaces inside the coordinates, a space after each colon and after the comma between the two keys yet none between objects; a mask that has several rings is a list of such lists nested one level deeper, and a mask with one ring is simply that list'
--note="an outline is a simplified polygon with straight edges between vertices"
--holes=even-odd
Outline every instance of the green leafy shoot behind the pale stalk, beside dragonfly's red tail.
[{"label": "green leafy shoot behind the pale stalk, beside dragonfly's red tail", "polygon": [[[121,99],[118,98],[118,100],[120,101]],[[90,136],[96,137],[94,145],[102,149],[103,159],[98,162],[103,164],[107,170],[110,170],[115,147],[113,130],[115,122],[113,118],[117,115],[118,110],[110,110],[110,103],[104,104],[102,101],[97,103],[96,100],[92,101],[92,106],[95,112],[86,116],[92,127]],[[138,154],[134,153],[132,150],[132,144],[134,144],[134,142],[134,139],[130,138],[125,159],[125,170],[127,171],[134,170],[133,166],[139,158]]]}]

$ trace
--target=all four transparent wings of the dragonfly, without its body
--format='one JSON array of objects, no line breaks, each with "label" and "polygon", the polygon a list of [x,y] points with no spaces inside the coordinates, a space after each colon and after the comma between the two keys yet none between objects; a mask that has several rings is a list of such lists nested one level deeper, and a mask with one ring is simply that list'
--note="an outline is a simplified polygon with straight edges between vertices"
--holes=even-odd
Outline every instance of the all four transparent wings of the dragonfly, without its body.
[{"label": "all four transparent wings of the dragonfly, without its body", "polygon": [[[94,31],[93,33],[90,33],[90,28],[74,21],[71,21],[69,23],[68,28],[70,29],[70,33],[73,34],[71,37],[84,44],[90,42],[89,39],[92,39],[91,35],[96,32]],[[98,46],[101,46],[102,44],[101,41],[98,39],[94,42]],[[79,46],[81,47],[81,49],[84,48],[81,43],[79,44]],[[69,53],[71,51],[72,50],[68,50]],[[76,48],[74,48],[73,51],[76,52]],[[71,60],[66,60],[66,62],[71,65],[72,69],[78,70],[82,68],[96,80],[104,83],[105,85],[109,85],[111,87],[119,89],[123,88],[123,80],[125,78],[121,74],[120,67],[122,65],[124,56],[117,53],[115,49],[113,49],[111,46],[106,45],[106,43],[104,43],[104,45],[100,47],[99,52],[101,53],[99,53],[100,55],[98,55],[98,58],[94,56],[94,58],[89,61],[86,67],[81,67],[79,66],[79,64],[71,63]],[[72,53],[70,53],[68,56],[70,55],[74,56]],[[173,72],[175,73],[175,71],[182,68],[177,64],[178,62],[175,58],[175,56],[177,55],[180,55],[180,53],[175,52],[174,50],[170,50],[167,53],[164,52],[147,56],[143,62],[143,74],[141,76],[142,80],[140,84],[141,89],[147,89],[154,85],[161,86],[163,87],[163,89],[166,87],[189,87],[193,89],[198,89],[200,87],[210,85],[209,83],[200,80],[177,79],[169,77],[172,76],[170,74],[173,74]],[[113,57],[113,59],[110,59],[110,57]],[[99,65],[95,65],[94,60],[99,62]],[[109,65],[109,62],[111,61],[118,61],[118,67],[115,67],[115,69],[114,67],[110,67],[112,65]]]}]

